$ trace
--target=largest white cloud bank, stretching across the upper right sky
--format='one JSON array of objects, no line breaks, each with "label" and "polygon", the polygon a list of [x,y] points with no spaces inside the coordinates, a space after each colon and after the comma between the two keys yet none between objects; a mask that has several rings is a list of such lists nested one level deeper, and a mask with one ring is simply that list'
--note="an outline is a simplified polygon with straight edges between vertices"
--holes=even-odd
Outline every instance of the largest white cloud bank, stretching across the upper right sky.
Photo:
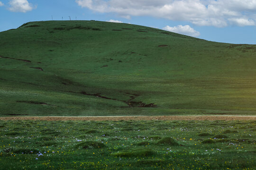
[{"label": "largest white cloud bank, stretching across the upper right sky", "polygon": [[[256,25],[256,0],[76,0],[82,8],[120,17],[152,16],[198,26]],[[247,20],[247,21],[246,21]]]}]

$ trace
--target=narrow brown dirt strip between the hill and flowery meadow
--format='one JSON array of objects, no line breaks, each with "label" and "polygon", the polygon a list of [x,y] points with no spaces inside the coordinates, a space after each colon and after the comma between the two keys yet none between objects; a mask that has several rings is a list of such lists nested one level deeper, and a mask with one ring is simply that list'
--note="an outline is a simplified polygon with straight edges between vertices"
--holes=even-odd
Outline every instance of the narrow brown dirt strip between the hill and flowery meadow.
[{"label": "narrow brown dirt strip between the hill and flowery meadow", "polygon": [[89,116],[89,117],[0,117],[0,120],[256,120],[256,116]]}]

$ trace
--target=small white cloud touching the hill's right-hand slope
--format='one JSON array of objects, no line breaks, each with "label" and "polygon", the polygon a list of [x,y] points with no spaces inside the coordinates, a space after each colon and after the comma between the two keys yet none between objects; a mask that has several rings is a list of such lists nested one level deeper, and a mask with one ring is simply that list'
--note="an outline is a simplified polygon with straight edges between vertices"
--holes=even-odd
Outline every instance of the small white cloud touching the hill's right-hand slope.
[{"label": "small white cloud touching the hill's right-hand slope", "polygon": [[197,37],[200,35],[200,33],[198,31],[194,30],[189,25],[186,25],[186,26],[179,25],[179,26],[174,26],[174,27],[165,26],[163,29],[166,31],[171,31],[174,33],[185,34],[185,35],[194,36],[194,37]]}]

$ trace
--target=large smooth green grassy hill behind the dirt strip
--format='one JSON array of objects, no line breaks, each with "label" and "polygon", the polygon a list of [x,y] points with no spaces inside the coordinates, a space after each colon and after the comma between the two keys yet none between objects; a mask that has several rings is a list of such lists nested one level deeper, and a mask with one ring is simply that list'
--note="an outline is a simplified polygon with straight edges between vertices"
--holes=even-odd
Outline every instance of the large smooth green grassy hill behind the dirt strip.
[{"label": "large smooth green grassy hill behind the dirt strip", "polygon": [[99,21],[0,33],[0,116],[256,114],[256,45]]}]

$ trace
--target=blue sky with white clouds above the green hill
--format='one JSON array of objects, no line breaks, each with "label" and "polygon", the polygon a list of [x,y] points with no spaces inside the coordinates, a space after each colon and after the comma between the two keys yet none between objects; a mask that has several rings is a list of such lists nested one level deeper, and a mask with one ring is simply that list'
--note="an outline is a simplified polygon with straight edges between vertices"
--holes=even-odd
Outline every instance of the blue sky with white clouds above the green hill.
[{"label": "blue sky with white clouds above the green hill", "polygon": [[0,31],[44,20],[150,26],[215,42],[256,44],[256,0],[0,0]]}]

